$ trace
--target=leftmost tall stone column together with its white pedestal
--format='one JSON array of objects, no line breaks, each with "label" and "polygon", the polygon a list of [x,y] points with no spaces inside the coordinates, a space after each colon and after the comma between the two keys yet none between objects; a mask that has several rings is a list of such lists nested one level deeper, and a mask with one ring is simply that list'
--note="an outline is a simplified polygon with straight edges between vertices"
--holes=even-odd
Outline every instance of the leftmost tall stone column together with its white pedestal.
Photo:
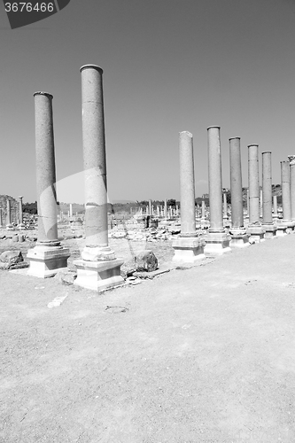
[{"label": "leftmost tall stone column together with its white pedestal", "polygon": [[70,253],[58,241],[53,97],[47,92],[35,92],[34,97],[38,236],[35,248],[27,252],[27,274],[45,278],[66,269]]}]

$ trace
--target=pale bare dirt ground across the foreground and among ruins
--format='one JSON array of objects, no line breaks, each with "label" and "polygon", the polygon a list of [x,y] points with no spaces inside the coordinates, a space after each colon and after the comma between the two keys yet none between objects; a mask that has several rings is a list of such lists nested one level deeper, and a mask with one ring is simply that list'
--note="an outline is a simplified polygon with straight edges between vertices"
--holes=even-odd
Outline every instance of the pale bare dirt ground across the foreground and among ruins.
[{"label": "pale bare dirt ground across the foreground and among ruins", "polygon": [[99,295],[0,271],[0,442],[293,443],[294,251],[290,234]]}]

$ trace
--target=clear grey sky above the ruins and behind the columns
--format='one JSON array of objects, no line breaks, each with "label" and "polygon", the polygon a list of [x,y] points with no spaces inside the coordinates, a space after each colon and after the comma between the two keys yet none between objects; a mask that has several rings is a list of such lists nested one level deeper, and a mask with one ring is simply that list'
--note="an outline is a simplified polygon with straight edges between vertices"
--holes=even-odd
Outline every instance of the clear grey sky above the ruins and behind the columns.
[{"label": "clear grey sky above the ruins and behind the columns", "polygon": [[[80,67],[104,69],[110,201],[176,198],[178,133],[193,135],[196,197],[207,192],[206,128],[280,161],[295,153],[295,0],[71,0],[10,29],[0,3],[0,194],[35,201],[35,91],[53,95],[58,199],[83,201]],[[74,175],[74,176],[73,176]],[[63,186],[62,186],[63,184]]]}]

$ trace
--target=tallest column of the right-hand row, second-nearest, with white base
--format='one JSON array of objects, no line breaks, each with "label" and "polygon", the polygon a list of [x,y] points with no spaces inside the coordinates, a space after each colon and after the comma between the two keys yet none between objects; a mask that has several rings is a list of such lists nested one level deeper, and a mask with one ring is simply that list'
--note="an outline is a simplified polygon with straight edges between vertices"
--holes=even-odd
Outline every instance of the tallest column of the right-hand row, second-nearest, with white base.
[{"label": "tallest column of the right-hand row, second-nearest, with white base", "polygon": [[223,228],[222,220],[222,177],[221,177],[221,128],[207,128],[210,228],[206,236],[205,253],[207,256],[220,255],[230,251],[230,236]]}]

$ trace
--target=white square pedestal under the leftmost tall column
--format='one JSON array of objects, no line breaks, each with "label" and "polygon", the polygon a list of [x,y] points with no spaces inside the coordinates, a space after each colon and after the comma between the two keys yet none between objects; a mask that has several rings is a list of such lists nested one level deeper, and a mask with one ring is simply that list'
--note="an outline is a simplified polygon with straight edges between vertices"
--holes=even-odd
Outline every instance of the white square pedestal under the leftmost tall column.
[{"label": "white square pedestal under the leftmost tall column", "polygon": [[67,268],[69,256],[70,250],[63,246],[36,245],[27,251],[27,260],[30,263],[27,276],[55,276],[59,270]]}]

